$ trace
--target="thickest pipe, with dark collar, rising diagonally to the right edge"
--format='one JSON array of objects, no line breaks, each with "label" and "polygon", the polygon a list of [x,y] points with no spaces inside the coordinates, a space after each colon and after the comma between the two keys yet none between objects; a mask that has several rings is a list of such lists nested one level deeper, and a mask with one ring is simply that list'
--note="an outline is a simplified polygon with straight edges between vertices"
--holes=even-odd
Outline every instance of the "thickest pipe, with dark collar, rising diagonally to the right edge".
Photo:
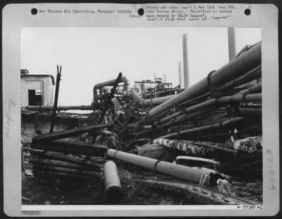
[{"label": "thickest pipe, with dark collar, rising diagonally to the right edge", "polygon": [[228,62],[220,69],[209,73],[208,77],[197,82],[190,88],[187,88],[185,91],[179,93],[175,97],[163,102],[161,105],[150,110],[148,117],[156,117],[161,112],[171,109],[172,107],[179,105],[185,101],[191,100],[199,95],[207,93],[214,86],[219,86],[227,81],[231,81],[236,77],[244,74],[245,72],[254,69],[255,67],[262,64],[262,45],[261,42],[255,44],[248,51],[239,55],[237,58]]}]

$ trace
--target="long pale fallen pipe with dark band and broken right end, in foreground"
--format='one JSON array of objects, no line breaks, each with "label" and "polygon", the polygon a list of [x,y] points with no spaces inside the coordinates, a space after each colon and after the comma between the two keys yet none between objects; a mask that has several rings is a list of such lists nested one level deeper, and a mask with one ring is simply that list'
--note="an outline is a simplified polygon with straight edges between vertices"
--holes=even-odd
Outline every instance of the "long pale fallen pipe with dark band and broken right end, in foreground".
[{"label": "long pale fallen pipe with dark band and broken right end, in foreground", "polygon": [[210,185],[209,183],[216,182],[214,178],[222,177],[219,173],[214,174],[214,170],[172,164],[166,161],[159,161],[157,159],[142,157],[113,149],[109,149],[107,155],[113,159],[147,168],[156,171],[157,173],[168,175],[178,180],[185,180],[190,183],[203,184],[203,180],[206,179],[207,182],[205,183]]}]

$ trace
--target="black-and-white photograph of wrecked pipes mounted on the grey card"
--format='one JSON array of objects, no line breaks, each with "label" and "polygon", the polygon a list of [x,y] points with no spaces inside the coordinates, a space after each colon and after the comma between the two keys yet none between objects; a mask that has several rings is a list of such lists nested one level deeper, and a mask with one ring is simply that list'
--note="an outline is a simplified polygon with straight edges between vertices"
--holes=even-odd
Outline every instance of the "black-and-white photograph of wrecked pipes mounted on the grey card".
[{"label": "black-and-white photograph of wrecked pipes mounted on the grey card", "polygon": [[260,28],[20,34],[23,204],[262,204]]}]

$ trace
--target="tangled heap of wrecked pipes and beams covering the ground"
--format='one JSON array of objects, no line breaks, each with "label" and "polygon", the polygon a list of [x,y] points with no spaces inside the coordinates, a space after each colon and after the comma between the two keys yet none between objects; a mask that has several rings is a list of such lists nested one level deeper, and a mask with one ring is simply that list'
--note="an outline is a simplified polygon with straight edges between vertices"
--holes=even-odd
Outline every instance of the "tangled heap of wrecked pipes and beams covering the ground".
[{"label": "tangled heap of wrecked pipes and beams covering the ground", "polygon": [[[86,159],[90,156],[101,156],[206,187],[216,185],[216,182],[226,178],[226,175],[231,175],[231,178],[238,175],[247,177],[252,175],[250,173],[261,175],[261,56],[259,42],[186,89],[170,88],[167,91],[155,91],[141,96],[129,88],[128,79],[121,77],[121,74],[118,79],[96,84],[93,88],[92,105],[57,108],[57,110],[91,109],[94,124],[61,133],[35,136],[32,138],[31,152],[35,156],[44,154],[45,159],[34,157],[30,159],[30,163],[37,165],[35,173],[38,175],[84,174],[97,178],[101,176],[99,169],[92,169],[92,173],[85,169],[78,174],[78,171],[66,170],[66,167],[81,168],[78,159],[68,160],[68,166],[54,160],[58,156],[63,159],[62,154],[52,157],[49,153],[71,152],[77,156],[85,154]],[[123,83],[123,89],[120,89],[121,85],[118,83]],[[28,106],[25,109],[41,111],[52,110],[52,107]],[[56,141],[75,135],[84,135],[85,138],[80,143]],[[150,147],[147,147],[148,145]],[[156,145],[161,147],[152,147]],[[162,153],[156,155],[153,153],[154,150]],[[143,153],[143,157],[133,154],[142,154],[144,151],[146,153]],[[155,155],[158,159],[152,158]],[[174,159],[184,155],[195,157],[186,160],[190,161],[191,165],[195,161],[196,166],[172,163]],[[200,159],[203,157],[206,159]],[[46,159],[51,160],[49,164]],[[209,162],[200,164],[200,161],[208,159]],[[47,164],[53,166],[46,166]],[[107,167],[110,164],[107,163],[104,170],[107,179],[111,178],[108,174],[111,168]],[[116,170],[115,173],[118,174]],[[106,180],[106,187],[111,184],[107,182]],[[140,183],[149,187],[164,187],[167,190],[164,186],[166,183],[157,180],[154,182],[140,180]],[[173,184],[170,188],[177,187],[179,191],[189,193],[192,188],[189,189],[187,185]],[[116,186],[120,188],[118,183]],[[214,192],[207,190],[202,187],[199,191],[193,191],[198,194],[202,192],[201,195],[212,200],[212,203],[250,203],[223,194],[215,195]]]}]

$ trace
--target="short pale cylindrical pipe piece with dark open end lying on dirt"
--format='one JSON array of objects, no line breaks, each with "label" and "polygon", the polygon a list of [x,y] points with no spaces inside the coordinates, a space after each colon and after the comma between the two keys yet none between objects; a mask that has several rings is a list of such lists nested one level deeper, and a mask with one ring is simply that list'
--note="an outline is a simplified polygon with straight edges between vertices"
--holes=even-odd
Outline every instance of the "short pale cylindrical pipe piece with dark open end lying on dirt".
[{"label": "short pale cylindrical pipe piece with dark open end lying on dirt", "polygon": [[121,180],[118,176],[118,168],[114,161],[107,161],[104,165],[104,197],[106,201],[115,203],[121,199]]}]

